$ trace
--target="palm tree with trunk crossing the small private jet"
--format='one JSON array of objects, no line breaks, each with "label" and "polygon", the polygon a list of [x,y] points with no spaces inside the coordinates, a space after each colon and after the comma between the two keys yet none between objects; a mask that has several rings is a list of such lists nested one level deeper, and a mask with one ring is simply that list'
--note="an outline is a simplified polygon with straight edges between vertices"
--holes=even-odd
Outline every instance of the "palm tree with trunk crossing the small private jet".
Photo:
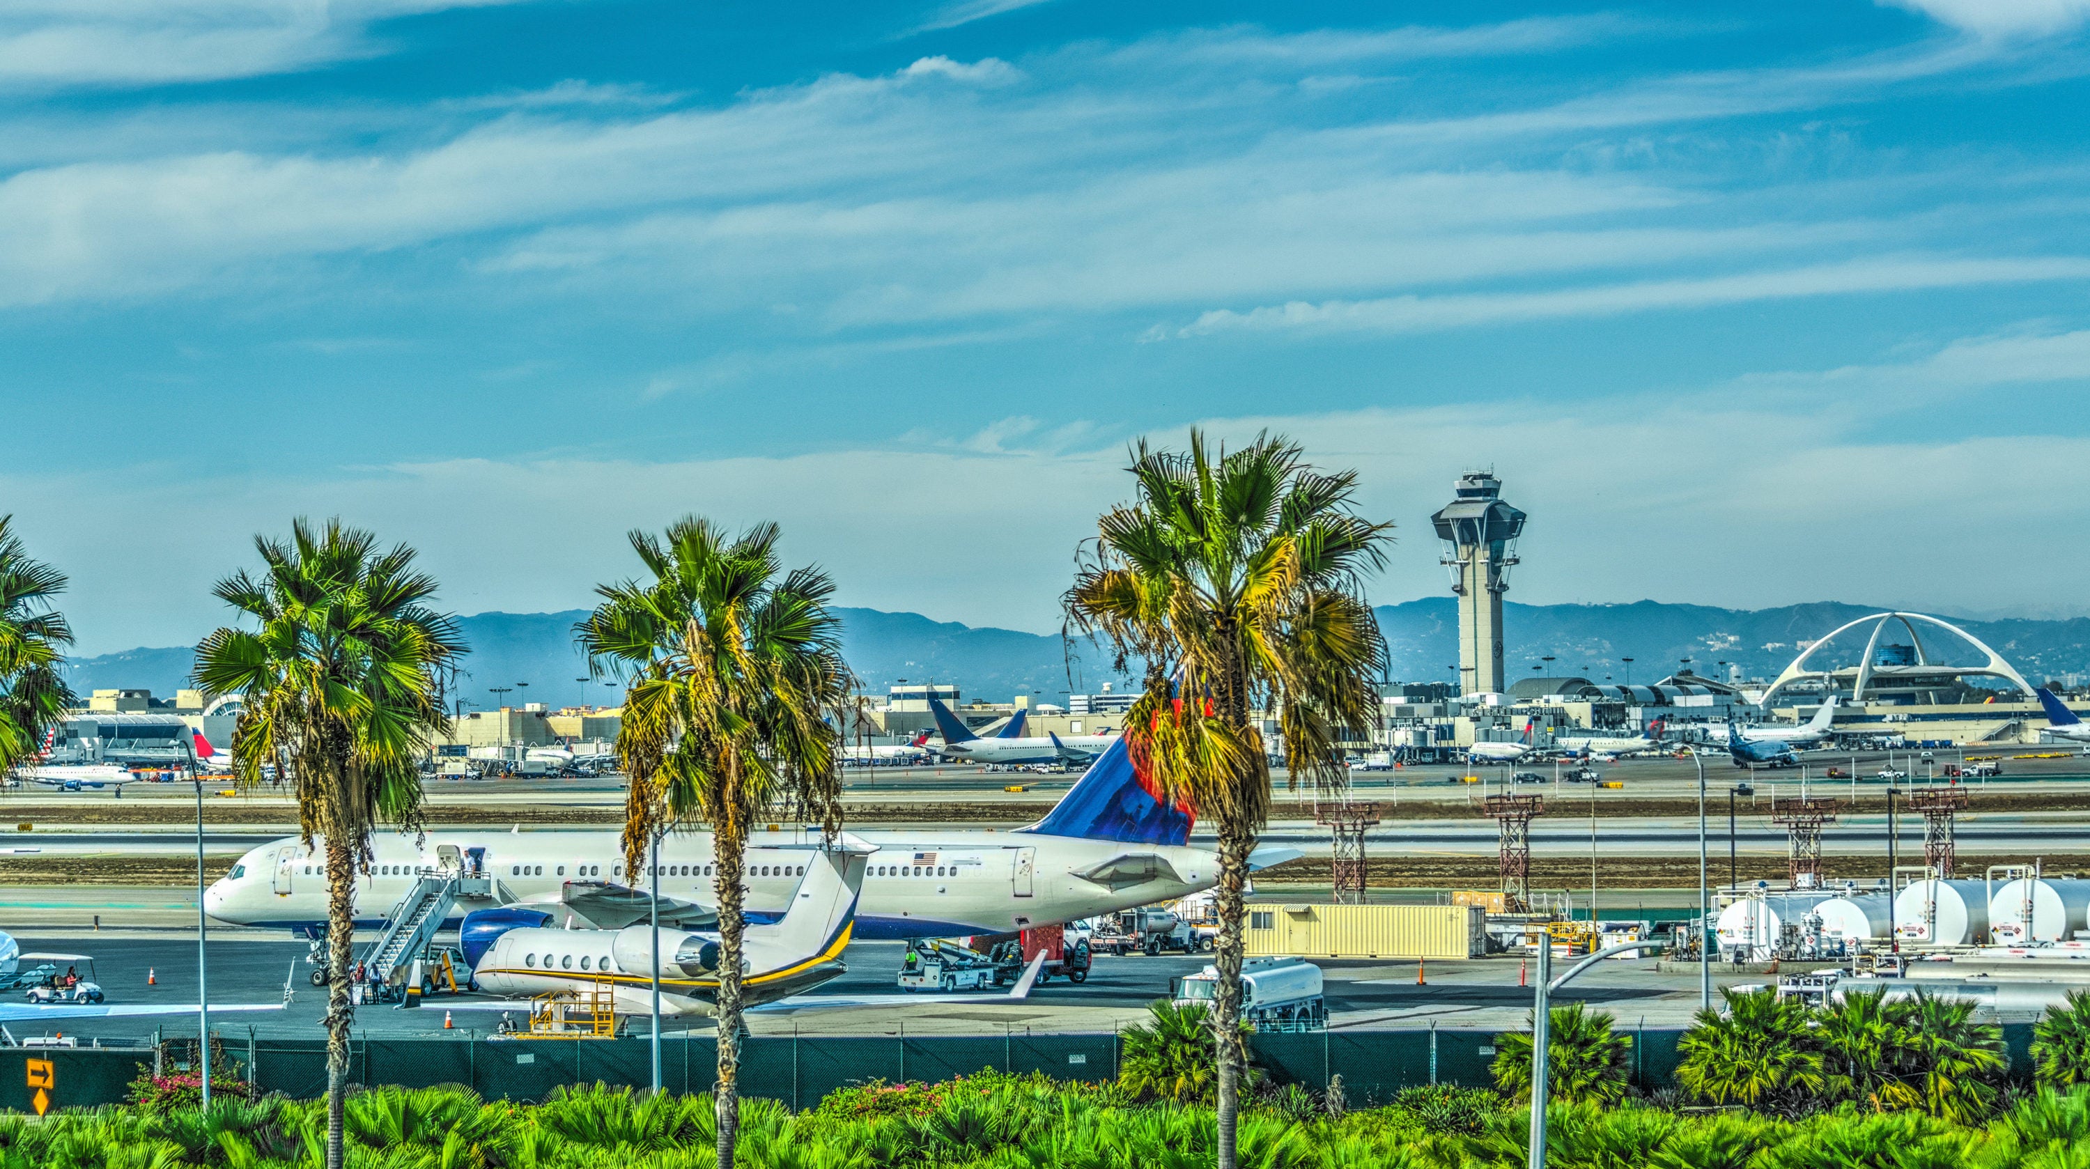
[{"label": "palm tree with trunk crossing the small private jet", "polygon": [[[792,805],[840,826],[836,753],[849,701],[834,581],[782,571],[777,527],[738,537],[690,517],[665,540],[633,531],[652,579],[600,586],[602,604],[575,627],[589,669],[629,680],[617,757],[631,776],[625,864],[640,872],[654,832],[711,824],[719,901],[719,1169],[740,1129],[740,885],[748,830]],[[834,717],[834,721],[830,721]]]}]

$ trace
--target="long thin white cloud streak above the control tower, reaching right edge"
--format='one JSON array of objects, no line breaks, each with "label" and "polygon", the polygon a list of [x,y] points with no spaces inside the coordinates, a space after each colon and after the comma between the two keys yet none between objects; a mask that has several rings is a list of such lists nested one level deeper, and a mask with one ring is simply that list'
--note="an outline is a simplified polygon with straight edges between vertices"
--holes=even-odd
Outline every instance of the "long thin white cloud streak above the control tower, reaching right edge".
[{"label": "long thin white cloud streak above the control tower, reaching right edge", "polygon": [[[1854,259],[1812,268],[1645,280],[1551,293],[1469,293],[1444,297],[1386,297],[1373,301],[1294,301],[1248,312],[1212,310],[1179,328],[1177,337],[1233,330],[1325,333],[1432,333],[1517,320],[1616,316],[1653,310],[1691,310],[1745,301],[1827,297],[1852,293],[1906,293],[1969,284],[2034,280],[2090,280],[2090,257],[1912,257]],[[1156,335],[1150,335],[1156,337]]]}]

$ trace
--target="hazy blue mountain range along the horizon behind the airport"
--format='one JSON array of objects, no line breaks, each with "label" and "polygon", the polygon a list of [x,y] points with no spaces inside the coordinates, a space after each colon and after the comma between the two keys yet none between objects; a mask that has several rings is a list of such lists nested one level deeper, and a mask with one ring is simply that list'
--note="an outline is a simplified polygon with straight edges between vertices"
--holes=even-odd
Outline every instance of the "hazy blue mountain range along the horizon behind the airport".
[{"label": "hazy blue mountain range along the horizon behind the airport", "polygon": [[[1814,602],[1781,609],[1714,609],[1703,604],[1507,604],[1505,659],[1511,680],[1532,673],[1582,675],[1595,682],[1653,682],[1676,673],[1691,659],[1697,673],[1716,673],[1718,663],[1735,663],[1743,678],[1772,678],[1804,642],[1820,638],[1881,606]],[[1459,613],[1448,596],[1384,604],[1379,629],[1396,682],[1450,682],[1459,661]],[[585,611],[564,613],[479,613],[460,617],[472,646],[460,671],[460,696],[489,707],[497,703],[604,705],[614,690],[587,680],[587,663],[573,646],[573,625]],[[1124,688],[1135,678],[1112,671],[1108,650],[1089,642],[1066,642],[1058,634],[972,627],[932,621],[920,613],[842,609],[842,650],[869,692],[897,682],[945,682],[963,694],[1007,701],[1035,694],[1062,703],[1066,692],[1093,692],[1110,682]],[[1994,646],[2025,678],[2042,682],[2069,673],[2090,673],[2090,619],[1992,619],[1958,621],[1969,634]],[[1950,636],[1931,636],[1919,625],[1933,659],[1973,665],[1967,646]],[[1845,636],[1850,640],[1850,636]],[[1906,640],[1889,625],[1889,642]],[[1845,661],[1860,644],[1837,646]],[[1547,663],[1545,657],[1555,661]],[[1825,650],[1827,655],[1827,650]],[[1630,665],[1624,659],[1634,659]],[[1841,663],[1841,661],[1839,661]],[[96,688],[150,688],[173,694],[186,686],[190,648],[136,648],[69,663],[69,680],[82,694]],[[493,694],[495,686],[510,688]]]}]

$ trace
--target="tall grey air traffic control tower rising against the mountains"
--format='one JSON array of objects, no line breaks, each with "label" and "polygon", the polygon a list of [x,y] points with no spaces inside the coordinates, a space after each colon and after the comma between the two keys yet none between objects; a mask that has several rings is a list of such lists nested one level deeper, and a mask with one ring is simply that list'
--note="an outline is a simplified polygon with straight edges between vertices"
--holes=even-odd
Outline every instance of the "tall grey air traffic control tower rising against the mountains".
[{"label": "tall grey air traffic control tower rising against the mountains", "polygon": [[1459,594],[1459,692],[1509,690],[1503,678],[1503,594],[1517,563],[1524,512],[1501,500],[1503,483],[1488,471],[1459,477],[1459,496],[1430,517],[1444,542],[1450,590]]}]

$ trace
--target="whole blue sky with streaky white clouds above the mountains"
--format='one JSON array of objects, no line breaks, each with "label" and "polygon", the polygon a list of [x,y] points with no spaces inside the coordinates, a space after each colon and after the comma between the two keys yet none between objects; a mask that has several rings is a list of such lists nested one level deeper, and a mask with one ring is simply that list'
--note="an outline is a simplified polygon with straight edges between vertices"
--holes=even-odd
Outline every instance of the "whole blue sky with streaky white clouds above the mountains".
[{"label": "whole blue sky with streaky white clouds above the mountains", "polygon": [[88,652],[343,514],[451,606],[780,519],[1047,629],[1129,439],[1302,439],[1442,590],[2077,613],[2090,0],[0,13],[0,508]]}]

